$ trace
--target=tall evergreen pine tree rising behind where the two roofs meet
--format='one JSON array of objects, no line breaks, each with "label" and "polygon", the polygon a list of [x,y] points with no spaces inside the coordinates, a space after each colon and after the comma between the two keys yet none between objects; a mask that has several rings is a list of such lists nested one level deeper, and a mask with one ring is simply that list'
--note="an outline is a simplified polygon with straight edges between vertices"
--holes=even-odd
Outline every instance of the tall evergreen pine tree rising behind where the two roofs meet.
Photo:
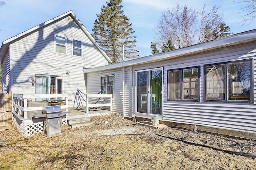
[{"label": "tall evergreen pine tree rising behind where the two roofs meet", "polygon": [[122,0],[110,0],[106,6],[102,6],[101,13],[96,14],[94,21],[94,32],[92,36],[112,59],[117,63],[122,59],[122,48],[124,45],[125,57],[138,57],[136,47],[136,36],[132,35],[132,23],[124,15],[121,5]]}]

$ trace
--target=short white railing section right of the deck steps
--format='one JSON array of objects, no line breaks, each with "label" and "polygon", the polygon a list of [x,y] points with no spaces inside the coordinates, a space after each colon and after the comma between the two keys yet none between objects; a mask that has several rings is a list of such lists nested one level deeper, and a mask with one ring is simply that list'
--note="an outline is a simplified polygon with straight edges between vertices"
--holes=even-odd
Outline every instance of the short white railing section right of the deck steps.
[{"label": "short white railing section right of the deck steps", "polygon": [[[87,94],[86,95],[86,113],[89,113],[89,108],[90,107],[107,107],[109,106],[109,110],[112,111],[112,97],[113,95],[112,94]],[[96,98],[96,99],[99,99],[99,98],[109,98],[109,100],[106,100],[106,101],[109,101],[108,103],[96,103],[96,104],[90,104],[89,101],[91,98]]]}]

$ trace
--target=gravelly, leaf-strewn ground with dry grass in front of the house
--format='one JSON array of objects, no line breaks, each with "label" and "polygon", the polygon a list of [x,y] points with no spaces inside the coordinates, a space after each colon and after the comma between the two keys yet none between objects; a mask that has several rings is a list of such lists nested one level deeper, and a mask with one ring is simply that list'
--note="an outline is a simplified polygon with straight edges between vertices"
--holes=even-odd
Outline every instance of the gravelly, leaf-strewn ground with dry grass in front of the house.
[{"label": "gravelly, leaf-strewn ground with dry grass in front of the house", "polygon": [[[152,129],[120,115],[45,137],[0,132],[0,169],[19,170],[254,170],[256,158],[190,145],[172,137],[235,152],[256,153],[256,142],[166,127]],[[158,135],[156,135],[158,134]],[[166,137],[162,137],[163,135]]]}]

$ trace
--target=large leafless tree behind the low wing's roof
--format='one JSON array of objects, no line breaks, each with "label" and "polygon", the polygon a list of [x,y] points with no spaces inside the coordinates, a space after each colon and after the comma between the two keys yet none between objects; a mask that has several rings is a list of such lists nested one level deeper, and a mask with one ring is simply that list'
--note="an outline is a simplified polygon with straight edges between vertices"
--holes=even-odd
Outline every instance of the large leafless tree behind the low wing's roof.
[{"label": "large leafless tree behind the low wing's roof", "polygon": [[181,48],[203,42],[206,28],[211,36],[217,34],[218,27],[223,23],[223,15],[218,13],[219,8],[214,6],[206,11],[203,7],[199,11],[177,4],[176,8],[164,11],[155,31],[156,45],[161,47],[170,40],[176,48]]}]

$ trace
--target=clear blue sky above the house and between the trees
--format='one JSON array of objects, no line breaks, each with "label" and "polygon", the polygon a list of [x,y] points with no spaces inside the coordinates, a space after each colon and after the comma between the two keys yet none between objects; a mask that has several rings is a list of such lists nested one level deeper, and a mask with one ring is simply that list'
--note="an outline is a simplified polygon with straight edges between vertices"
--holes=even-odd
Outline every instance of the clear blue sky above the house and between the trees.
[{"label": "clear blue sky above the house and between the trees", "polygon": [[[6,4],[0,7],[0,41],[13,37],[31,27],[48,21],[60,14],[72,10],[78,19],[92,33],[93,23],[100,8],[108,0],[2,0]],[[239,1],[239,0],[237,0]],[[256,29],[256,20],[242,26],[241,10],[245,3],[233,0],[123,0],[124,14],[130,18],[132,28],[137,36],[136,49],[141,56],[151,55],[150,41],[154,40],[154,29],[164,10],[187,4],[189,8],[206,10],[220,6],[225,23],[234,33]]]}]

